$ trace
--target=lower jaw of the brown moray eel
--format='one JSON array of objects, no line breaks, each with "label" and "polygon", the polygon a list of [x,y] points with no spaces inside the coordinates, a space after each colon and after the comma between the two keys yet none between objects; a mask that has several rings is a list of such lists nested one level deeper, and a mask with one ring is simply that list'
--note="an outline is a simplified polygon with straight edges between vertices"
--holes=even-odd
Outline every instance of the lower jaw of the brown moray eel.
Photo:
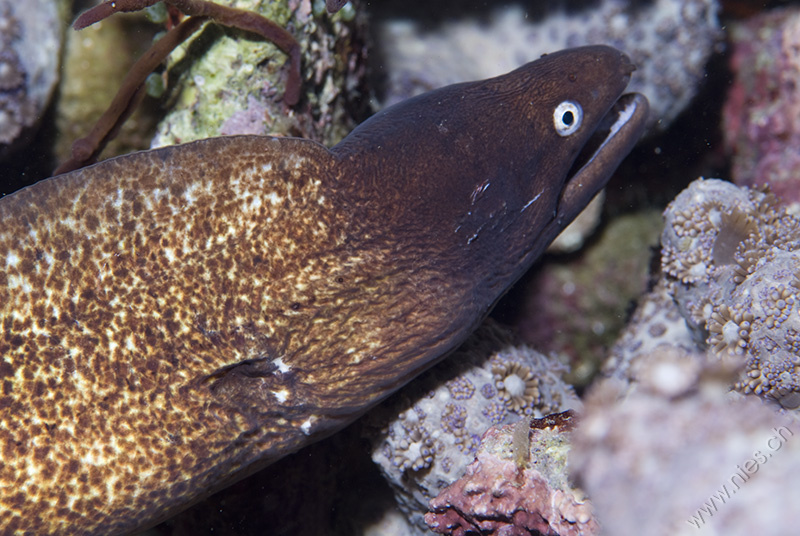
[{"label": "lower jaw of the brown moray eel", "polygon": [[[603,117],[573,165],[558,202],[556,225],[572,221],[611,178],[639,141],[650,105],[639,93],[622,95]],[[593,152],[588,155],[587,151]]]}]

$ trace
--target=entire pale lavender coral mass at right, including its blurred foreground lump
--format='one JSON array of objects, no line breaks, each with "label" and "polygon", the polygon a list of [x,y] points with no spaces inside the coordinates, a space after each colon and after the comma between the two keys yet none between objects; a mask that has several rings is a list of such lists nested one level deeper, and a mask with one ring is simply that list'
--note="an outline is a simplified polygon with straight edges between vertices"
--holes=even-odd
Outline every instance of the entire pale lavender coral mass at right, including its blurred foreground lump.
[{"label": "entire pale lavender coral mass at right, including its blurred foreground lump", "polygon": [[664,218],[660,279],[584,400],[576,481],[618,536],[789,534],[800,225],[769,192],[715,179]]}]

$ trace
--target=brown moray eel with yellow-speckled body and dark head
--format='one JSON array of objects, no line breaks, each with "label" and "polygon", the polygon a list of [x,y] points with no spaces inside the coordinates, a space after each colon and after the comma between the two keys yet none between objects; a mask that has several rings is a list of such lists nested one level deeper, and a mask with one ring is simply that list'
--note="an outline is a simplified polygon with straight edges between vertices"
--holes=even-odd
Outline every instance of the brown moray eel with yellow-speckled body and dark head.
[{"label": "brown moray eel with yellow-speckled body and dark head", "polygon": [[562,51],[330,150],[213,138],[0,200],[0,533],[150,526],[436,363],[635,144],[633,70]]}]

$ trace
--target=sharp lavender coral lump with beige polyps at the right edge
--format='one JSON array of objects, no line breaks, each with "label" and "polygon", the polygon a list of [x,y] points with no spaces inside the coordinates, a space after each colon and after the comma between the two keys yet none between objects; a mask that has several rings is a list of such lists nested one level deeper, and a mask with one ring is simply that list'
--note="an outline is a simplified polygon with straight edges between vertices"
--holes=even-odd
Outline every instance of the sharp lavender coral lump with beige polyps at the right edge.
[{"label": "sharp lavender coral lump with beige polyps at the right edge", "polygon": [[736,390],[800,407],[800,221],[770,193],[714,179],[664,219],[662,269],[695,339],[743,361]]}]

